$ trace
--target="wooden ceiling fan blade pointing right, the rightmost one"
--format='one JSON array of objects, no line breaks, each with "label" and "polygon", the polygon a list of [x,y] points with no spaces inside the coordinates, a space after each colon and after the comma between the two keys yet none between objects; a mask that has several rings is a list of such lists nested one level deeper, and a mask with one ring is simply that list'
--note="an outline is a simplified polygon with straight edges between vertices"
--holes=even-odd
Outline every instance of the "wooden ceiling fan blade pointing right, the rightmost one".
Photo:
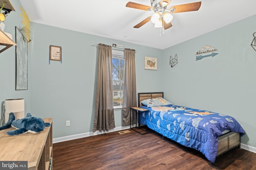
[{"label": "wooden ceiling fan blade pointing right, the rightmost one", "polygon": [[170,8],[170,13],[197,11],[199,10],[200,6],[201,6],[201,2],[193,2],[189,4],[176,5]]}]

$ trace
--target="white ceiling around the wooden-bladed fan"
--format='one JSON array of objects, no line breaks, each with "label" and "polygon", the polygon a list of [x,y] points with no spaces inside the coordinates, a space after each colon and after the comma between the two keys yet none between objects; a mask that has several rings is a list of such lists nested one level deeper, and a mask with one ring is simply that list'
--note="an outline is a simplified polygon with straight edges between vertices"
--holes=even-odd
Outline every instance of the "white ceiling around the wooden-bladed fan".
[{"label": "white ceiling around the wooden-bladed fan", "polygon": [[[151,6],[150,0],[20,0],[32,22],[157,49],[166,49],[256,14],[256,0],[201,0],[198,11],[172,14],[173,26],[163,33],[152,22],[133,28],[154,12],[127,8],[129,1]],[[167,8],[198,1],[172,0]]]}]

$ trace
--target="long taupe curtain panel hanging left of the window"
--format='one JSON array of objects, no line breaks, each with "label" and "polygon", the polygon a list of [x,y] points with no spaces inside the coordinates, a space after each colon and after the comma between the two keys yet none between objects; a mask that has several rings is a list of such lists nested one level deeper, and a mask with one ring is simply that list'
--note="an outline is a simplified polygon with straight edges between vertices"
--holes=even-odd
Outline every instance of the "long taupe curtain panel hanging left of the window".
[{"label": "long taupe curtain panel hanging left of the window", "polygon": [[93,131],[115,127],[112,95],[112,47],[98,45],[98,74]]}]

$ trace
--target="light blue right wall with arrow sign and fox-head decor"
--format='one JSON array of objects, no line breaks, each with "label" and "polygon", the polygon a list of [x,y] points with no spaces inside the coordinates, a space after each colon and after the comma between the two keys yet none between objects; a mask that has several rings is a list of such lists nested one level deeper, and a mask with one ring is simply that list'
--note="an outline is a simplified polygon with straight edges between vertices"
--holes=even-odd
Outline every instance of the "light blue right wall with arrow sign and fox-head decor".
[{"label": "light blue right wall with arrow sign and fox-head decor", "polygon": [[[161,63],[162,88],[168,100],[235,117],[246,131],[242,143],[253,147],[256,51],[250,44],[255,20],[252,16],[165,49]],[[196,61],[195,54],[204,45],[218,49],[218,55]],[[169,57],[175,54],[178,64],[171,68]]]}]

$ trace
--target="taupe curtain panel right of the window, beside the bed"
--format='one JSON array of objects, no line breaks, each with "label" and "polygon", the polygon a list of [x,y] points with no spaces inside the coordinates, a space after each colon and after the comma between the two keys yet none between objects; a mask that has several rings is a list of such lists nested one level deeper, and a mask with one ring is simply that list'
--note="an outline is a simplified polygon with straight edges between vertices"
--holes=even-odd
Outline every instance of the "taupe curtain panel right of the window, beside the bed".
[{"label": "taupe curtain panel right of the window, beside the bed", "polygon": [[[135,50],[124,49],[124,99],[122,108],[122,126],[130,125],[130,108],[137,106]],[[134,114],[136,122],[136,114]]]}]

